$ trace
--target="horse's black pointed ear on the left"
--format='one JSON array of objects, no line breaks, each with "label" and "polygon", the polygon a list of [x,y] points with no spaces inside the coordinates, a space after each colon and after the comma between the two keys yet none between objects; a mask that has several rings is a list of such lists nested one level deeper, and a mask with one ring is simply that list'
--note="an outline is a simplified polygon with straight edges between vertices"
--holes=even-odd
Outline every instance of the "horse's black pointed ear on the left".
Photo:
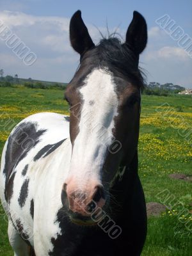
[{"label": "horse's black pointed ear on the left", "polygon": [[81,18],[81,11],[74,13],[70,20],[70,44],[76,52],[83,54],[95,46],[92,38],[88,33],[88,29],[84,25]]}]

